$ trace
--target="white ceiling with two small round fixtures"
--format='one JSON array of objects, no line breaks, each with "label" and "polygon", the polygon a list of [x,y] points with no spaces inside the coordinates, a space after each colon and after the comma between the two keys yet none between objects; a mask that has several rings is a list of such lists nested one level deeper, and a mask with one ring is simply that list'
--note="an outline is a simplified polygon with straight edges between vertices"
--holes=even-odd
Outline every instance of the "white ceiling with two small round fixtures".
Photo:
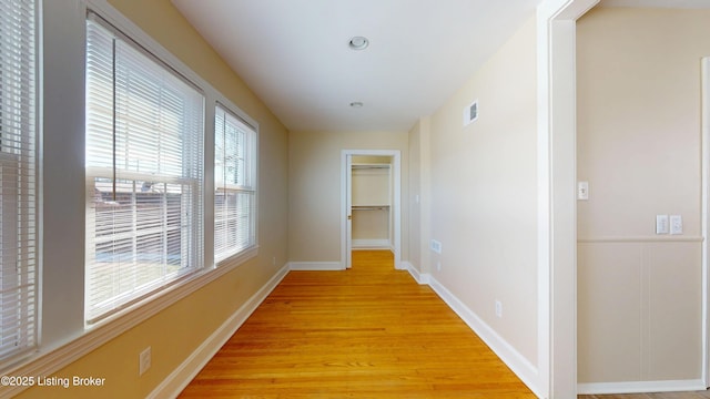
[{"label": "white ceiling with two small round fixtures", "polygon": [[[172,0],[290,131],[326,132],[408,131],[460,88],[540,1]],[[369,47],[351,50],[356,35],[368,38]]]}]

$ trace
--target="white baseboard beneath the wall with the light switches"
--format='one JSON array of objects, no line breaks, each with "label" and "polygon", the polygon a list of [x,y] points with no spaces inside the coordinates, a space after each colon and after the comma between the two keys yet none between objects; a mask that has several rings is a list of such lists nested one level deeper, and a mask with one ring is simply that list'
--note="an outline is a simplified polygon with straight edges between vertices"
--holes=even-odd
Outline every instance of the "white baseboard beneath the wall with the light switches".
[{"label": "white baseboard beneath the wall with the light switches", "polygon": [[702,379],[578,383],[579,395],[683,392],[706,390]]}]

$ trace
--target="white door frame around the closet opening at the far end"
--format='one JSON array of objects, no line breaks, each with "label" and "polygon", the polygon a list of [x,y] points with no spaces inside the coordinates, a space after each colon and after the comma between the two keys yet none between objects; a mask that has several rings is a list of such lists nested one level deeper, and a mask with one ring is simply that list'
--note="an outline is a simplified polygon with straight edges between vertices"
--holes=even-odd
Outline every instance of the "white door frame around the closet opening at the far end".
[{"label": "white door frame around the closet opening at the far end", "polygon": [[342,150],[341,151],[341,266],[352,267],[352,158],[353,156],[392,156],[393,202],[389,212],[394,216],[395,268],[402,268],[402,152],[399,150]]}]

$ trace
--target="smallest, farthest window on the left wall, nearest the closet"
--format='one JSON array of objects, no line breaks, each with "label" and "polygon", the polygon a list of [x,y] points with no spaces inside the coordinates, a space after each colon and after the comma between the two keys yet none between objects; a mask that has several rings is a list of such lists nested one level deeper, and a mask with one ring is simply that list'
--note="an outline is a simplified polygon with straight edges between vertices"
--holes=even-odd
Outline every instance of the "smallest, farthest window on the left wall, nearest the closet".
[{"label": "smallest, farthest window on the left wall, nearest the closet", "polygon": [[256,244],[256,131],[223,106],[215,110],[214,258]]}]

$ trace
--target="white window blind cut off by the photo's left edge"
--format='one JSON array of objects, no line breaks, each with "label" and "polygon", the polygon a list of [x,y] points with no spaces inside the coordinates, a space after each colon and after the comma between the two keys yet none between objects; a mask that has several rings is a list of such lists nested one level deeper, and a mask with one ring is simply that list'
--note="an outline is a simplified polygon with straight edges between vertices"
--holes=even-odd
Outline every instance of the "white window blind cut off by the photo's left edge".
[{"label": "white window blind cut off by the photo's left edge", "polygon": [[0,2],[0,359],[37,346],[37,29],[33,0]]}]

